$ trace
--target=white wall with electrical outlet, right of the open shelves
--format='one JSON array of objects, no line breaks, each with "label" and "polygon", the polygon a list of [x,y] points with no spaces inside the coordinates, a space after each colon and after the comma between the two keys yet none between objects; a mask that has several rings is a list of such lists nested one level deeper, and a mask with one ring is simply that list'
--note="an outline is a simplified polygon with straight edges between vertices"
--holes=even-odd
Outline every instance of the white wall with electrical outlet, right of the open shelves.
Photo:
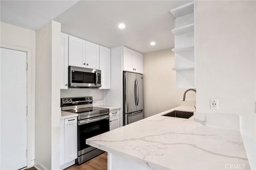
[{"label": "white wall with electrical outlet, right of the open shelves", "polygon": [[[196,2],[196,109],[240,115],[251,169],[256,169],[255,11],[255,1]],[[218,110],[210,109],[210,99],[218,99]]]}]

